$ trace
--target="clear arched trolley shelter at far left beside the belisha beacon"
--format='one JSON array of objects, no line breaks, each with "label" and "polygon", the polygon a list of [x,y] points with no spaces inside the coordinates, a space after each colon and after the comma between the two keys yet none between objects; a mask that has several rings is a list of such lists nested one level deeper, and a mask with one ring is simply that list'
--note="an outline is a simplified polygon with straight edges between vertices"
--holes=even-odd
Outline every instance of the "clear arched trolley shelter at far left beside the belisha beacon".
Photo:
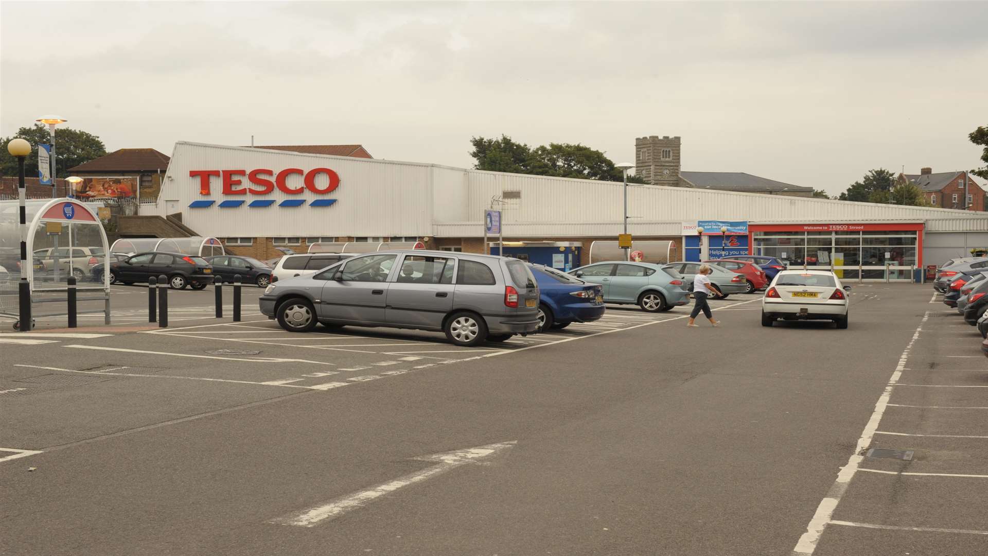
[{"label": "clear arched trolley shelter at far left beside the belisha beacon", "polygon": [[[78,301],[101,302],[100,310],[110,324],[109,245],[97,206],[75,199],[44,199],[26,204],[28,261],[21,267],[21,220],[17,201],[0,201],[0,318],[19,318],[18,282],[22,276],[31,286],[33,306],[67,303],[68,278],[76,279]],[[32,308],[38,317],[58,317]],[[44,313],[43,311],[49,311]]]}]

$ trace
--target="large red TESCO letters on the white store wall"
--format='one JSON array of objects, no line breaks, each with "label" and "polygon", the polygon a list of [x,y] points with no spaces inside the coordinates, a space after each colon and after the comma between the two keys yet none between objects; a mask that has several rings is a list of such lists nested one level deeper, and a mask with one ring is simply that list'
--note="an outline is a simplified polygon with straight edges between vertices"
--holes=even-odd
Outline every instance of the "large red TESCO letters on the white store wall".
[{"label": "large red TESCO letters on the white store wall", "polygon": [[[291,187],[288,177],[298,175],[302,185]],[[277,188],[288,195],[298,195],[306,189],[316,195],[331,193],[340,186],[340,176],[329,168],[285,168],[279,172],[267,168],[256,170],[189,170],[189,177],[199,178],[200,195],[211,195],[218,183],[223,195],[267,195]],[[213,178],[216,178],[213,180]],[[297,184],[298,179],[292,180]]]}]

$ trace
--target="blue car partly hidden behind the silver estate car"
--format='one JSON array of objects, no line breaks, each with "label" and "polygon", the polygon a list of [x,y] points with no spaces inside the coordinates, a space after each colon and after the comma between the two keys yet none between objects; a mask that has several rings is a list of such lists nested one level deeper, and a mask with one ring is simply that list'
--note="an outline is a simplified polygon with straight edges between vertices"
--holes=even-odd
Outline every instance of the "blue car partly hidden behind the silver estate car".
[{"label": "blue car partly hidden behind the silver estate car", "polygon": [[530,264],[538,282],[538,331],[604,317],[604,288],[540,264]]}]

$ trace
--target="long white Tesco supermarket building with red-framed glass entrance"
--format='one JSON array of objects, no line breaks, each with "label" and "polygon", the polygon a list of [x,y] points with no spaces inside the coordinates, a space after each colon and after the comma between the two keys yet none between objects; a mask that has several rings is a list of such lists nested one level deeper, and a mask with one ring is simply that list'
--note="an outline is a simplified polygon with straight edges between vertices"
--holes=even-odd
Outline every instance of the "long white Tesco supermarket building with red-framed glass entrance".
[{"label": "long white Tesco supermarket building with red-framed glass entrance", "polygon": [[[328,241],[417,240],[433,249],[483,252],[484,211],[496,209],[506,255],[573,268],[590,261],[595,241],[615,241],[622,232],[622,189],[612,182],[181,141],[156,204],[141,205],[140,215],[180,221],[190,232],[219,237],[231,252],[265,259],[280,255],[278,247],[304,252]],[[627,206],[636,243],[674,242],[668,255],[646,250],[646,261],[745,252],[834,268],[845,279],[910,280],[922,278],[924,265],[988,246],[982,212],[655,185],[628,186]],[[497,252],[497,238],[490,239]],[[597,245],[602,252],[604,243]]]}]

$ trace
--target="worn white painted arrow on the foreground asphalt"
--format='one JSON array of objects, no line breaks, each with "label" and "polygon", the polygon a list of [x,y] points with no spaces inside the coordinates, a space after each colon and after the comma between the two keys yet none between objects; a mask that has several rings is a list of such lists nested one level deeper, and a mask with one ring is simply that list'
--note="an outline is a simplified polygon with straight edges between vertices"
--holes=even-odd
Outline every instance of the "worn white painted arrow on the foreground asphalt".
[{"label": "worn white painted arrow on the foreground asphalt", "polygon": [[371,487],[370,489],[365,489],[363,491],[358,491],[354,494],[338,498],[330,503],[302,511],[301,513],[292,513],[285,517],[272,519],[269,522],[277,523],[279,525],[312,527],[319,524],[320,521],[333,519],[343,515],[347,511],[363,508],[371,501],[386,494],[393,493],[402,487],[407,487],[409,485],[425,481],[426,479],[431,479],[432,477],[435,477],[441,473],[446,473],[447,471],[459,467],[460,465],[480,463],[480,460],[492,456],[506,448],[510,448],[514,446],[515,443],[516,440],[509,442],[498,442],[496,444],[487,444],[486,446],[477,446],[475,448],[465,448],[442,454],[433,454],[413,458],[422,461],[435,461],[439,463],[432,467],[423,469],[422,471],[409,473],[408,475],[404,475],[394,479],[393,481],[381,483]]}]

